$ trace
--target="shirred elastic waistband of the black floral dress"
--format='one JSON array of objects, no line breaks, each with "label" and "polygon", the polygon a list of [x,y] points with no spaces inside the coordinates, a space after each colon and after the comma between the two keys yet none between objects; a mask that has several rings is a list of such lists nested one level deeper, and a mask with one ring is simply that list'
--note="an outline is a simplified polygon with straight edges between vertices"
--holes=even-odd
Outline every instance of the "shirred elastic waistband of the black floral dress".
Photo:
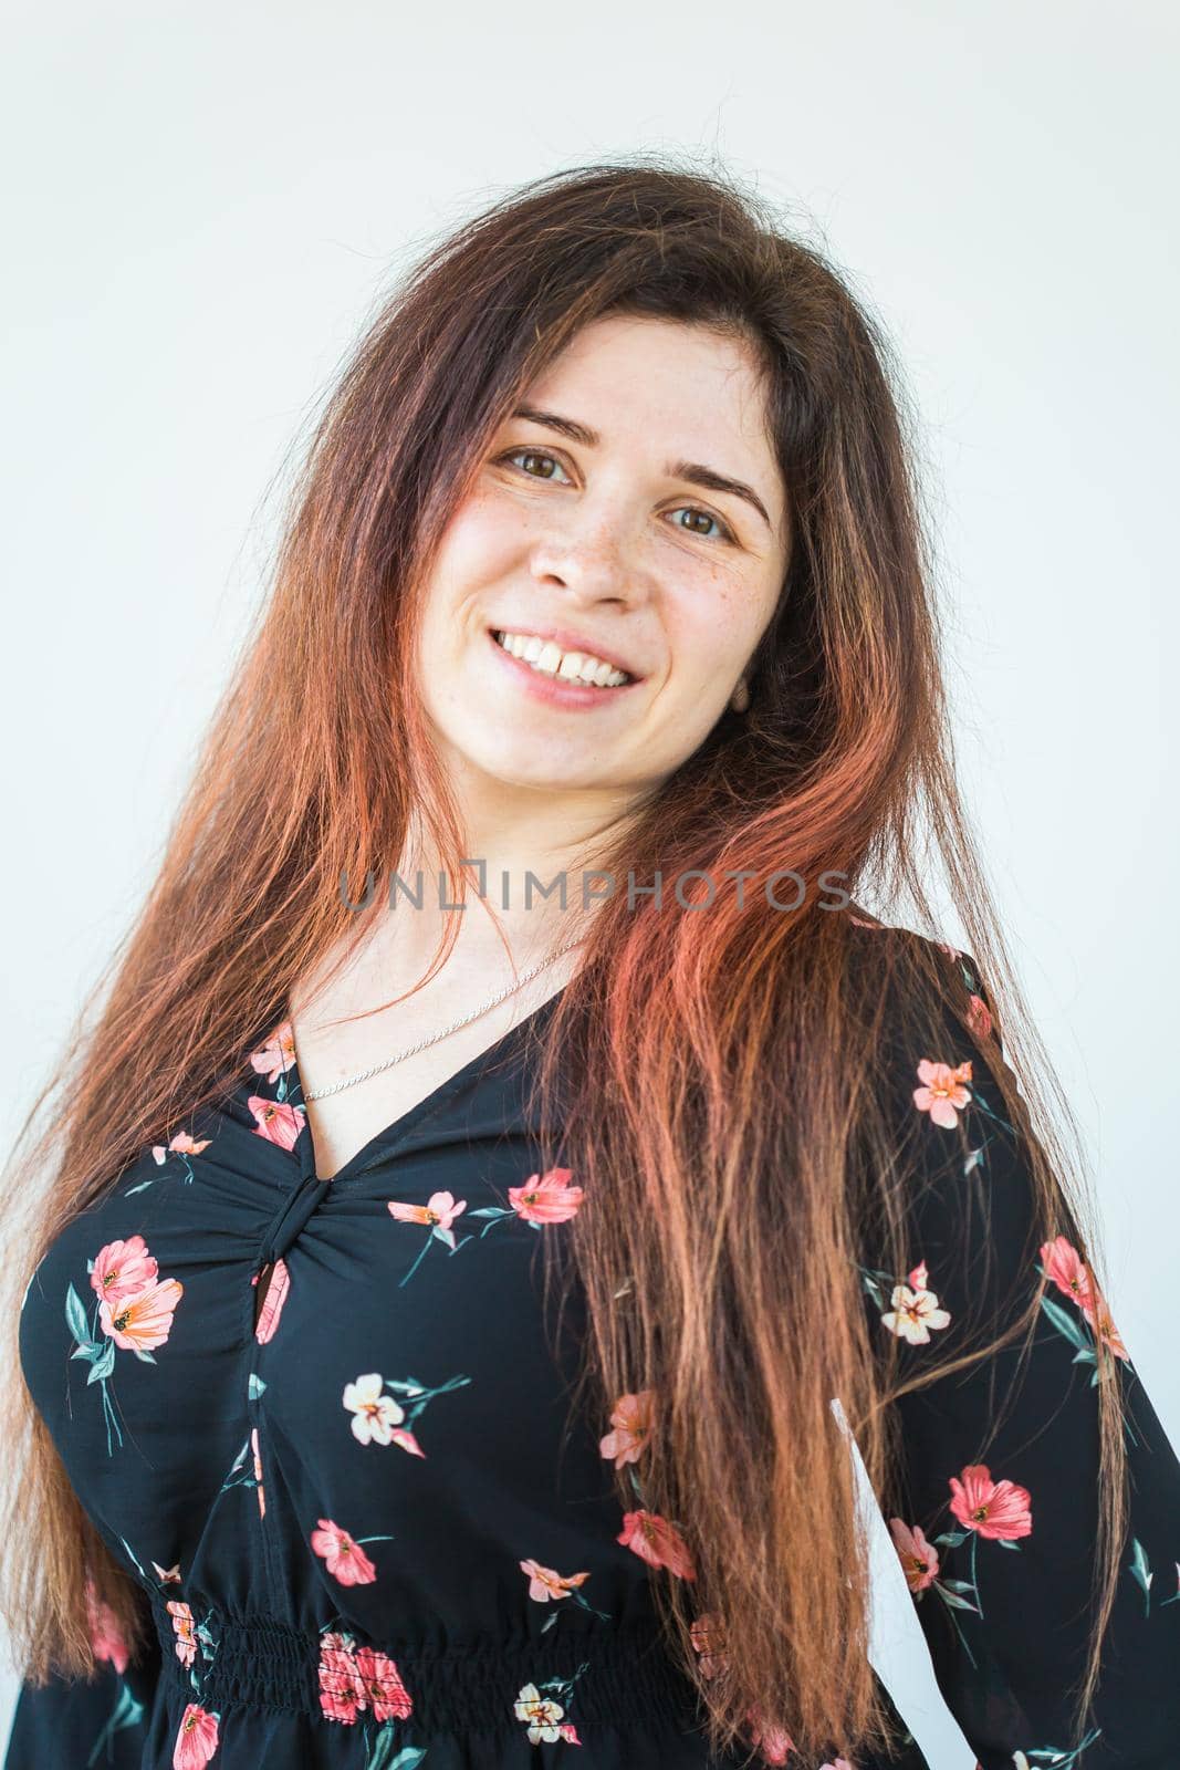
[{"label": "shirred elastic waistband of the black floral dress", "polygon": [[[165,1666],[193,1699],[193,1682],[177,1655],[177,1632],[159,1600],[152,1604]],[[340,1639],[338,1630],[333,1641]],[[577,1726],[635,1728],[663,1722],[692,1729],[702,1708],[692,1682],[674,1666],[651,1630],[601,1627],[564,1639],[465,1648],[389,1646],[347,1630],[356,1650],[372,1648],[396,1666],[412,1703],[407,1728],[421,1733],[511,1733],[520,1728],[515,1701],[533,1683],[545,1696],[548,1680],[570,1683],[570,1720]],[[248,1708],[303,1713],[334,1726],[320,1701],[320,1635],[306,1635],[264,1618],[202,1618],[195,1669],[202,1705],[225,1712]],[[331,1683],[331,1680],[329,1680]],[[563,1699],[563,1697],[559,1697]],[[563,1699],[564,1701],[564,1699]]]}]

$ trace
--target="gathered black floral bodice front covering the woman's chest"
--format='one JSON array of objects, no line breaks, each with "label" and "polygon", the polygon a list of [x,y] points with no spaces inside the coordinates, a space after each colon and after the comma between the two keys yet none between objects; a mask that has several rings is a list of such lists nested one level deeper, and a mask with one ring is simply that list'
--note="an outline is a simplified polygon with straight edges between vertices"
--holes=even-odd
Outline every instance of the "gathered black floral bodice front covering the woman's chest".
[{"label": "gathered black floral bodice front covering the woman's chest", "polygon": [[[552,1361],[534,1257],[564,1223],[515,1202],[538,1154],[502,1090],[471,1090],[462,1140],[441,1108],[294,1223],[301,1150],[260,1135],[246,1106],[278,1085],[244,1078],[232,1112],[196,1124],[195,1152],[145,1150],[30,1283],[21,1363],[83,1503],[142,1565],[163,1545],[163,1565],[225,1584],[239,1609],[258,1602],[260,1531],[303,1554],[308,1520],[338,1503],[357,1533],[396,1536],[391,1602],[421,1581],[430,1614],[462,1607],[501,1520],[520,1519],[522,1496],[547,1503],[547,1469],[563,1481],[557,1528],[601,1496],[612,1554],[596,1423],[559,1466],[571,1366]],[[283,1283],[260,1333],[255,1274],[278,1225]],[[513,1538],[513,1586],[534,1549],[531,1526]]]}]

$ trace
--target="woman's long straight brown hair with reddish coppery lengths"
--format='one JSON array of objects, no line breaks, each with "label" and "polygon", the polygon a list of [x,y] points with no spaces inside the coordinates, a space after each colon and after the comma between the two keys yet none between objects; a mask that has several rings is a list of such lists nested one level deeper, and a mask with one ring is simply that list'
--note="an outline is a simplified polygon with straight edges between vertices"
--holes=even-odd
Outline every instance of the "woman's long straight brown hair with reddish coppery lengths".
[{"label": "woman's long straight brown hair with reddish coppery lengths", "polygon": [[[563,1308],[575,1278],[586,1299],[571,1409],[605,1432],[621,1397],[656,1398],[644,1510],[678,1522],[693,1579],[658,1579],[655,1591],[711,1743],[782,1729],[801,1752],[851,1756],[888,1742],[890,1720],[867,1658],[858,1494],[831,1398],[886,1494],[890,1389],[849,1250],[865,1166],[854,1152],[883,1150],[888,1126],[849,919],[824,913],[812,890],[796,913],[775,910],[762,892],[771,874],[833,874],[881,903],[908,894],[918,931],[938,936],[925,874],[931,857],[941,862],[1005,1030],[1012,1069],[994,1035],[989,1050],[1012,1122],[1028,1127],[1046,1234],[1061,1188],[1099,1285],[1102,1274],[1081,1142],[957,791],[920,451],[888,340],[830,257],[731,175],[639,156],[538,179],[430,248],[366,329],[317,416],[269,595],[157,876],[4,1177],[4,1319],[14,1329],[19,1290],[64,1225],[214,1097],[251,1032],[285,1018],[295,979],[349,927],[364,938],[341,878],[396,864],[421,816],[451,890],[467,889],[412,662],[423,588],[527,384],[607,313],[708,326],[754,347],[794,545],[752,658],[748,715],[727,710],[603,848],[600,866],[640,889],[601,904],[545,1023],[538,1087],[550,1106],[561,1099],[545,1136],[554,1149],[561,1138],[593,1205],[568,1225],[561,1274]],[[741,904],[724,890],[708,910],[692,892],[642,890],[656,871],[724,880],[729,869],[748,876]],[[414,988],[456,933],[455,919]],[[900,950],[881,942],[886,968]],[[906,989],[934,1016],[945,984],[931,966],[909,970]],[[900,1244],[893,1255],[904,1271]],[[547,1313],[557,1290],[547,1260]],[[824,1331],[803,1342],[808,1320]],[[83,1593],[110,1604],[134,1644],[138,1595],[73,1494],[16,1347],[4,1368],[16,1480],[0,1607],[30,1680],[90,1673]],[[927,1381],[939,1374],[932,1363]],[[1083,1706],[1125,1519],[1115,1388],[1097,1389],[1102,1605]],[[633,1510],[628,1466],[616,1480]],[[702,1618],[724,1637],[724,1676],[702,1676]]]}]

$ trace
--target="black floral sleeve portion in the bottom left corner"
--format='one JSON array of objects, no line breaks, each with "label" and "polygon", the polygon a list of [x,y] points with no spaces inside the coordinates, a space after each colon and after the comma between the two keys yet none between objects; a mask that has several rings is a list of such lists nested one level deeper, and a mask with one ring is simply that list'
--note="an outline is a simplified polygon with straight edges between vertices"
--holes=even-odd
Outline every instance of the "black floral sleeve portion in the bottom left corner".
[{"label": "black floral sleeve portion in the bottom left corner", "polygon": [[129,1660],[115,1630],[99,1627],[96,1651],[103,1657],[92,1678],[19,1685],[4,1770],[140,1770],[159,1646],[152,1641]]}]

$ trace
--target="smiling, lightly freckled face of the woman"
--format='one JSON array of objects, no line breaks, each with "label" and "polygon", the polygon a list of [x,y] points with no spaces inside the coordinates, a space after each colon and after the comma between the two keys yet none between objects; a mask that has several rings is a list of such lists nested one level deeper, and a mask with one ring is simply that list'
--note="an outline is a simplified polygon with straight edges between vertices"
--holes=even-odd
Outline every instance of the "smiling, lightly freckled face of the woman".
[{"label": "smiling, lightly freckled face of the woman", "polygon": [[[699,326],[609,315],[524,407],[435,561],[426,713],[469,788],[623,809],[702,743],[778,602],[789,513],[755,358]],[[626,681],[586,683],[586,660]]]}]

